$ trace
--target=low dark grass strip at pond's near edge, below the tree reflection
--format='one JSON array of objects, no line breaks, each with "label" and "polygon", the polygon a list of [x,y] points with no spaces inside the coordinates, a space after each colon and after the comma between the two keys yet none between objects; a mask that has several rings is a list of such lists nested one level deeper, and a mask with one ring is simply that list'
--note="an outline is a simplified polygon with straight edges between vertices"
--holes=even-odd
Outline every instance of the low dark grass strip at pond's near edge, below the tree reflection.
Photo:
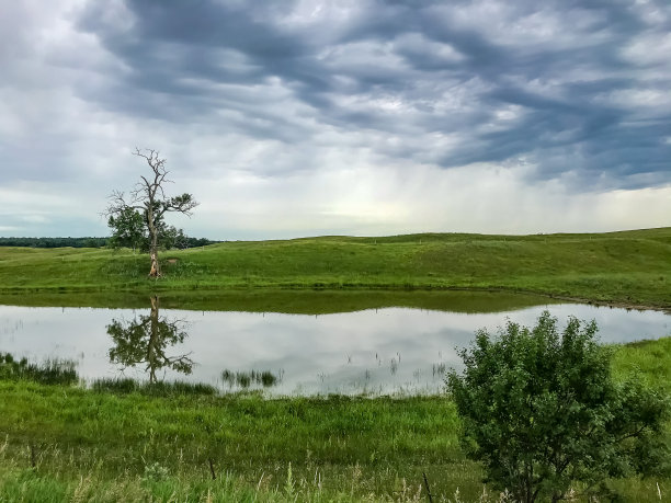
[{"label": "low dark grass strip at pond's near edge, below the tree reflection", "polygon": [[116,395],[140,393],[148,397],[214,396],[217,389],[204,382],[141,382],[130,378],[95,379],[93,391]]}]

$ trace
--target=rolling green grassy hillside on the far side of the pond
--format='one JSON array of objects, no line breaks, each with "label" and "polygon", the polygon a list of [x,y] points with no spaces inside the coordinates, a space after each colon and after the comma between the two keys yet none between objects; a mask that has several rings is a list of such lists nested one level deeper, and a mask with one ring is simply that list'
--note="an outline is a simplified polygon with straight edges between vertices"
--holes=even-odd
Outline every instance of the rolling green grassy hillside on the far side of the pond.
[{"label": "rolling green grassy hillside on the far side of the pond", "polygon": [[99,249],[0,248],[0,291],[492,289],[671,307],[671,228],[592,235],[411,235],[225,242],[148,258]]}]

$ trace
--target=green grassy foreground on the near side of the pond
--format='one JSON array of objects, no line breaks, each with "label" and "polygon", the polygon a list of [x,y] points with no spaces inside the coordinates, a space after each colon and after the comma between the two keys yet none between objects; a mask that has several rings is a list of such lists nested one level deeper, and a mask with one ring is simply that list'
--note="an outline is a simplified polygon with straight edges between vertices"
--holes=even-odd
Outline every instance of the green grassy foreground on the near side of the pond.
[{"label": "green grassy foreground on the near side of the pond", "polygon": [[[616,376],[671,390],[671,339],[614,348]],[[0,501],[427,501],[423,473],[434,501],[497,501],[445,397],[124,389],[0,378]],[[668,479],[612,484],[671,498]]]}]

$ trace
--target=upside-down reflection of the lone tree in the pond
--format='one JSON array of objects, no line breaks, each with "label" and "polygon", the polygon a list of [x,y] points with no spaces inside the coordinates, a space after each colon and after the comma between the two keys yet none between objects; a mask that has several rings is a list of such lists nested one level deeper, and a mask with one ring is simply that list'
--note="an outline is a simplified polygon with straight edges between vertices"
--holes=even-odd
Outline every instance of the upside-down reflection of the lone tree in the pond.
[{"label": "upside-down reflection of the lone tree in the pond", "polygon": [[107,334],[114,346],[110,348],[110,362],[118,364],[122,369],[146,364],[149,382],[156,382],[156,374],[161,369],[170,369],[191,374],[194,362],[191,353],[169,356],[167,350],[181,344],[187,336],[186,322],[179,319],[169,320],[159,316],[159,298],[151,297],[149,316],[139,315],[130,321],[112,320],[107,325]]}]

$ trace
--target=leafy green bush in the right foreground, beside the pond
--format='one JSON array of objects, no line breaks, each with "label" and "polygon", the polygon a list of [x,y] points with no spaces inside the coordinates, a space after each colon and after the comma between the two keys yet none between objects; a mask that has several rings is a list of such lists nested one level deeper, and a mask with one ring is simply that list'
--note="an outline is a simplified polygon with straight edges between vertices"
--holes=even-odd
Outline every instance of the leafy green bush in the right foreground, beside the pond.
[{"label": "leafy green bush in the right foreground, beside the pond", "polygon": [[515,501],[560,501],[605,491],[609,478],[668,471],[667,397],[616,382],[594,321],[569,318],[562,334],[545,311],[536,327],[508,322],[476,333],[446,382],[463,445],[486,481]]}]

